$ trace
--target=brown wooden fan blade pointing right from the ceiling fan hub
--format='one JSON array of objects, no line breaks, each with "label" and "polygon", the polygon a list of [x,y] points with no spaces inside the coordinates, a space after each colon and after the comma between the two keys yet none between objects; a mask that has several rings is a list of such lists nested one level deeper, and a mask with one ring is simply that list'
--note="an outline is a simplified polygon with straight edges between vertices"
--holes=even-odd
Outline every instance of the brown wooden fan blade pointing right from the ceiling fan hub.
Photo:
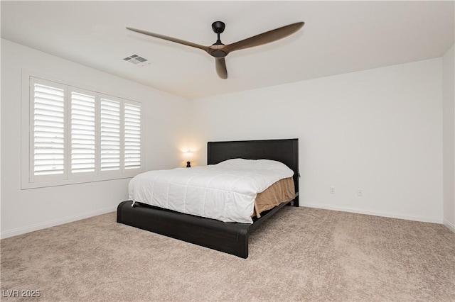
[{"label": "brown wooden fan blade pointing right from the ceiling fan hub", "polygon": [[297,30],[302,28],[304,24],[305,24],[304,22],[293,23],[289,24],[288,26],[283,26],[280,28],[276,28],[274,30],[266,31],[265,33],[260,33],[259,35],[255,35],[251,38],[247,38],[245,40],[241,40],[236,43],[226,45],[225,51],[228,50],[228,52],[231,52],[234,50],[242,50],[245,48],[255,47],[274,42],[276,40],[287,37],[292,33],[295,33]]}]

